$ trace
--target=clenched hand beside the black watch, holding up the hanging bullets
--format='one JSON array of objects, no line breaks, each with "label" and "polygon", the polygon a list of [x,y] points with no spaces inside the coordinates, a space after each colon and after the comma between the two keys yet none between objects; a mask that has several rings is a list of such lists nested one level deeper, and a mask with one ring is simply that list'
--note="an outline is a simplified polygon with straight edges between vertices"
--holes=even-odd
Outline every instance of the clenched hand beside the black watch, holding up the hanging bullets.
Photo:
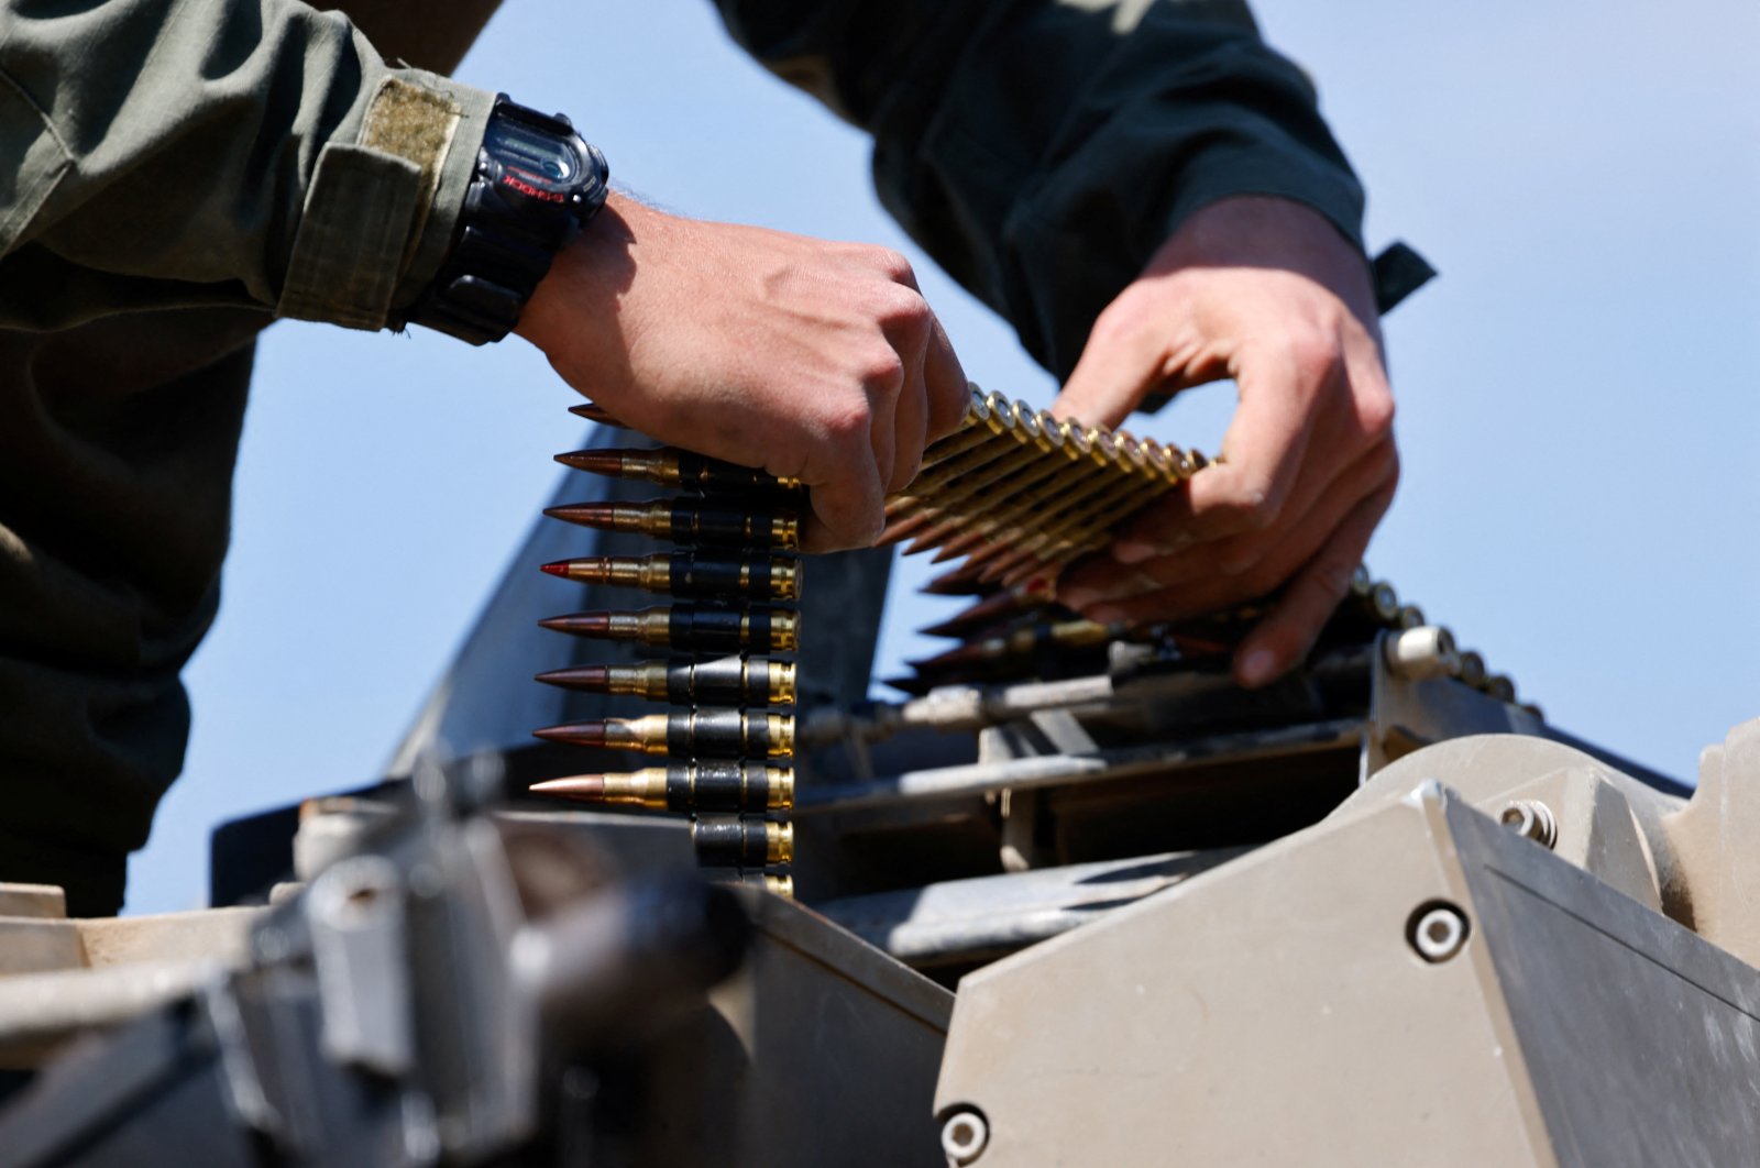
[{"label": "clenched hand beside the black watch, holding up the hanging bullets", "polygon": [[517,331],[620,420],[801,478],[813,551],[871,544],[884,494],[910,482],[968,401],[898,252],[616,195],[556,257]]}]

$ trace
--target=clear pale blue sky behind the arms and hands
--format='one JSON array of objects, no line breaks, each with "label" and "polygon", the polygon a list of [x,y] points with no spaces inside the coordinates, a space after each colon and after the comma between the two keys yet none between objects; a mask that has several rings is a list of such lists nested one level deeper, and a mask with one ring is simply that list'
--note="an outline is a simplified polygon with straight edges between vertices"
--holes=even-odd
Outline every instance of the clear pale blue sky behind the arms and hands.
[{"label": "clear pale blue sky behind the arms and hands", "polygon": [[[1257,11],[1320,84],[1369,239],[1443,273],[1387,322],[1404,480],[1371,566],[1558,725],[1690,779],[1760,714],[1760,5]],[[459,76],[570,113],[678,213],[910,252],[864,137],[708,4],[507,0]],[[1049,401],[912,255],[966,371]],[[554,487],[576,401],[521,341],[266,336],[188,769],[130,911],[202,902],[213,823],[380,772]],[[1228,406],[1197,391],[1148,429],[1214,449]],[[885,658],[933,614],[894,591]]]}]

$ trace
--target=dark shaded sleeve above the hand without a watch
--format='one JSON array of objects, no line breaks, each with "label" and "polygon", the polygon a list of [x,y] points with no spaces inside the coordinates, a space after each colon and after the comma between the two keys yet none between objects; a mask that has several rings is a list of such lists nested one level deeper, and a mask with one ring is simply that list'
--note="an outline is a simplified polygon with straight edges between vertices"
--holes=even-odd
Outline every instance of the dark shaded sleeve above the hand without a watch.
[{"label": "dark shaded sleeve above the hand without a watch", "polygon": [[875,135],[880,197],[1060,376],[1206,202],[1265,193],[1360,246],[1362,190],[1239,0],[718,0]]}]

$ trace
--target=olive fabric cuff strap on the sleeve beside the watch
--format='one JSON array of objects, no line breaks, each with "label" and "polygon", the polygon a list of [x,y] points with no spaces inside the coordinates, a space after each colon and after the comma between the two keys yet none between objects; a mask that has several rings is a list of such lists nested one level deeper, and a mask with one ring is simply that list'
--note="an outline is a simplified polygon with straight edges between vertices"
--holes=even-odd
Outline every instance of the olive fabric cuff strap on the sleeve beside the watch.
[{"label": "olive fabric cuff strap on the sleeve beside the watch", "polygon": [[407,158],[331,142],[319,155],[275,311],[350,329],[382,329],[428,195]]}]

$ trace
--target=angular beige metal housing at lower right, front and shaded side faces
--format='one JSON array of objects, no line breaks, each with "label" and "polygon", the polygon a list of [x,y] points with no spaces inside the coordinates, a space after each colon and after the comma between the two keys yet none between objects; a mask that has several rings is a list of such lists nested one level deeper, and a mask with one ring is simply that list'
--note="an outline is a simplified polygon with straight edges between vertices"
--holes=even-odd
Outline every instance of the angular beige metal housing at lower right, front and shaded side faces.
[{"label": "angular beige metal housing at lower right, front and shaded side faces", "polygon": [[982,1117],[972,1163],[1748,1163],[1760,973],[1392,788],[970,975],[936,1108]]}]

